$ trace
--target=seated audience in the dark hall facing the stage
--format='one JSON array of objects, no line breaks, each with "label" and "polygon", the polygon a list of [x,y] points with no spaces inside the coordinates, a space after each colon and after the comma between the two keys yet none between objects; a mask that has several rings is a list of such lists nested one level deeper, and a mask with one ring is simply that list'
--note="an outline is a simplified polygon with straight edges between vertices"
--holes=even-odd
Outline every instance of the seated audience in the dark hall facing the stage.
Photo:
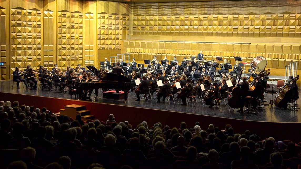
[{"label": "seated audience in the dark hall facing the stage", "polygon": [[12,107],[11,102],[0,101],[0,117],[0,149],[22,149],[21,161],[7,161],[7,168],[76,168],[74,153],[82,152],[89,157],[112,158],[109,163],[90,159],[85,168],[144,168],[157,159],[169,168],[178,168],[185,161],[191,168],[280,169],[287,167],[278,151],[289,158],[300,155],[294,143],[286,145],[273,137],[262,141],[249,130],[234,133],[231,124],[222,131],[209,124],[203,131],[199,122],[189,128],[181,122],[177,129],[160,122],[148,128],[143,121],[135,128],[129,121],[117,123],[113,114],[108,125],[101,124],[102,119],[85,123],[80,115],[73,121],[69,116],[57,117],[45,107],[42,113],[33,106],[19,107],[17,101]]}]

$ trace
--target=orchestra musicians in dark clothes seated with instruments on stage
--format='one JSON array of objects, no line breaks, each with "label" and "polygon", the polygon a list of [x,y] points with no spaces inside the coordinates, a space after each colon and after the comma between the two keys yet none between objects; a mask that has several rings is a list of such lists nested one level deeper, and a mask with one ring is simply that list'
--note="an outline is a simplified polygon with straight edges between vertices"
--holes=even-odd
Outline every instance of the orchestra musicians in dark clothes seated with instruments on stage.
[{"label": "orchestra musicians in dark clothes seated with instruments on stage", "polygon": [[[200,57],[199,57],[200,56]],[[200,61],[201,60],[201,61]],[[127,63],[127,66],[123,67],[123,59],[120,58],[119,62],[116,62],[116,66],[113,67],[112,73],[116,73],[119,75],[131,75],[129,76],[129,79],[131,81],[129,90],[131,92],[136,93],[136,100],[140,100],[140,94],[144,94],[148,92],[147,87],[151,86],[151,94],[148,97],[151,97],[153,95],[156,88],[158,88],[157,80],[161,80],[163,83],[163,86],[159,87],[159,91],[157,93],[157,102],[161,102],[161,97],[163,97],[163,100],[165,97],[167,97],[169,94],[172,94],[175,96],[177,94],[177,98],[182,100],[182,105],[186,105],[186,98],[188,96],[192,95],[200,95],[203,99],[206,98],[206,104],[209,105],[209,107],[213,106],[212,99],[223,99],[227,98],[229,93],[227,92],[234,92],[234,88],[239,88],[240,91],[237,94],[237,104],[239,104],[239,110],[238,112],[244,112],[244,106],[247,105],[246,103],[246,96],[247,91],[251,90],[253,91],[252,99],[250,101],[251,103],[251,109],[258,109],[259,106],[259,100],[262,97],[263,91],[265,90],[265,85],[267,84],[268,80],[268,74],[269,69],[259,69],[258,67],[252,66],[251,69],[249,69],[250,74],[248,76],[244,76],[240,78],[241,76],[241,69],[238,69],[240,67],[240,62],[238,60],[235,61],[235,64],[233,65],[233,69],[231,72],[228,71],[228,65],[229,60],[224,59],[223,63],[219,65],[219,70],[217,71],[222,77],[220,81],[214,80],[213,77],[215,77],[216,74],[216,68],[213,66],[213,63],[216,63],[217,61],[212,59],[211,62],[209,62],[209,66],[206,68],[203,64],[203,61],[206,62],[206,58],[203,57],[202,51],[200,51],[200,54],[198,54],[197,58],[194,58],[193,65],[191,65],[190,61],[186,60],[186,57],[183,58],[183,62],[186,63],[185,66],[179,66],[178,60],[176,60],[176,57],[173,57],[172,62],[175,62],[175,65],[172,66],[172,69],[169,69],[169,61],[167,60],[167,57],[164,56],[164,60],[162,62],[163,65],[160,65],[159,61],[157,60],[157,56],[154,56],[152,60],[152,65],[148,65],[150,69],[147,69],[147,72],[144,71],[144,64],[140,64],[139,68],[136,72],[136,61],[135,58],[132,58],[132,62]],[[174,63],[172,63],[174,64]],[[243,63],[245,64],[245,63]],[[105,58],[104,64],[105,66],[104,70],[110,66],[110,62]],[[200,67],[200,69],[197,69],[197,67]],[[134,70],[135,68],[135,70]],[[162,69],[157,72],[157,69]],[[191,70],[190,70],[191,69]],[[259,70],[260,71],[259,71]],[[101,71],[103,71],[103,68],[100,68]],[[108,70],[108,69],[107,69]],[[64,88],[66,85],[69,88],[69,91],[71,89],[78,90],[79,99],[87,99],[90,98],[90,95],[93,90],[95,90],[95,97],[97,97],[98,94],[98,88],[92,88],[88,90],[81,90],[79,83],[85,83],[87,81],[95,80],[96,76],[92,75],[90,71],[85,71],[84,69],[81,69],[80,65],[77,65],[77,67],[74,69],[70,68],[70,66],[67,66],[67,71],[62,72],[57,64],[54,64],[54,68],[51,70],[53,73],[49,73],[47,69],[44,66],[39,66],[39,69],[37,71],[34,71],[33,68],[31,68],[30,65],[27,65],[26,69],[24,71],[19,71],[19,68],[16,67],[15,71],[13,72],[13,80],[17,82],[17,88],[19,89],[19,83],[20,81],[24,82],[26,88],[30,89],[37,89],[37,80],[36,78],[39,78],[42,84],[42,91],[45,91],[45,87],[49,87],[48,90],[52,91],[53,84],[54,86],[59,88],[59,91],[62,93],[65,93],[66,91]],[[184,71],[184,72],[183,72]],[[179,74],[182,74],[180,75]],[[228,75],[226,76],[226,73]],[[259,72],[257,74],[256,72]],[[267,73],[268,72],[268,73]],[[233,73],[236,73],[237,77],[233,77]],[[157,76],[156,76],[157,75]],[[186,77],[187,75],[187,77]],[[21,78],[23,76],[23,78]],[[141,78],[141,83],[137,85],[135,83],[135,80],[137,78]],[[198,77],[197,77],[198,76]],[[237,83],[238,78],[238,83]],[[240,79],[242,80],[241,82]],[[298,96],[298,90],[296,88],[296,81],[292,81],[293,77],[289,77],[290,81],[288,84],[284,85],[282,88],[289,86],[291,93],[289,96],[286,96],[283,100],[284,104],[281,104],[281,108],[287,109],[287,103],[291,99],[297,99]],[[228,87],[226,81],[230,80],[232,85],[231,87]],[[66,83],[67,84],[66,84]],[[78,82],[77,84],[75,82]],[[181,88],[176,87],[176,83],[179,82]],[[195,83],[196,82],[196,83]],[[27,86],[27,84],[29,84]],[[212,85],[213,84],[213,85]],[[203,86],[203,90],[201,88]],[[280,88],[280,89],[282,89]],[[103,89],[104,90],[104,89]],[[107,89],[105,89],[107,91]],[[157,90],[156,90],[157,91]],[[118,90],[116,90],[116,93],[119,93]],[[232,93],[231,93],[232,94]],[[235,94],[233,94],[235,95]],[[169,99],[172,99],[171,97]],[[146,98],[147,100],[147,98]],[[232,99],[233,100],[233,99]],[[229,104],[230,105],[230,104]],[[233,107],[234,108],[234,107]]]}]

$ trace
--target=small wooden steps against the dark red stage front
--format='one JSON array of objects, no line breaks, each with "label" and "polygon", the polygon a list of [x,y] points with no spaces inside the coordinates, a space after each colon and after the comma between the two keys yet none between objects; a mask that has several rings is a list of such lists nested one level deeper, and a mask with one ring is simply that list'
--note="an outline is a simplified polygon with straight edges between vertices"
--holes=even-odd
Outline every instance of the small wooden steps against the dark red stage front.
[{"label": "small wooden steps against the dark red stage front", "polygon": [[90,110],[86,110],[86,106],[78,104],[70,104],[64,106],[65,109],[60,109],[60,112],[54,113],[55,115],[68,115],[75,120],[76,115],[81,115],[83,121],[95,120],[95,116],[91,115]]}]

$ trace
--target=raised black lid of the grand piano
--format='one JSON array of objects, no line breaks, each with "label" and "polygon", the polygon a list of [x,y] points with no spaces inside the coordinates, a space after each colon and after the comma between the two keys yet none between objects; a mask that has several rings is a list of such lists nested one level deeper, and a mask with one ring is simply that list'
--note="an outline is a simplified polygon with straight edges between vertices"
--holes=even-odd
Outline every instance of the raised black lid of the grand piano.
[{"label": "raised black lid of the grand piano", "polygon": [[[91,72],[94,73],[95,76],[97,76],[100,80],[106,80],[106,81],[118,81],[118,82],[127,82],[131,83],[130,79],[127,78],[124,75],[119,75],[116,73],[108,73],[108,72],[100,72],[97,70],[94,66],[86,66]],[[99,76],[99,72],[101,73],[101,76]]]}]

